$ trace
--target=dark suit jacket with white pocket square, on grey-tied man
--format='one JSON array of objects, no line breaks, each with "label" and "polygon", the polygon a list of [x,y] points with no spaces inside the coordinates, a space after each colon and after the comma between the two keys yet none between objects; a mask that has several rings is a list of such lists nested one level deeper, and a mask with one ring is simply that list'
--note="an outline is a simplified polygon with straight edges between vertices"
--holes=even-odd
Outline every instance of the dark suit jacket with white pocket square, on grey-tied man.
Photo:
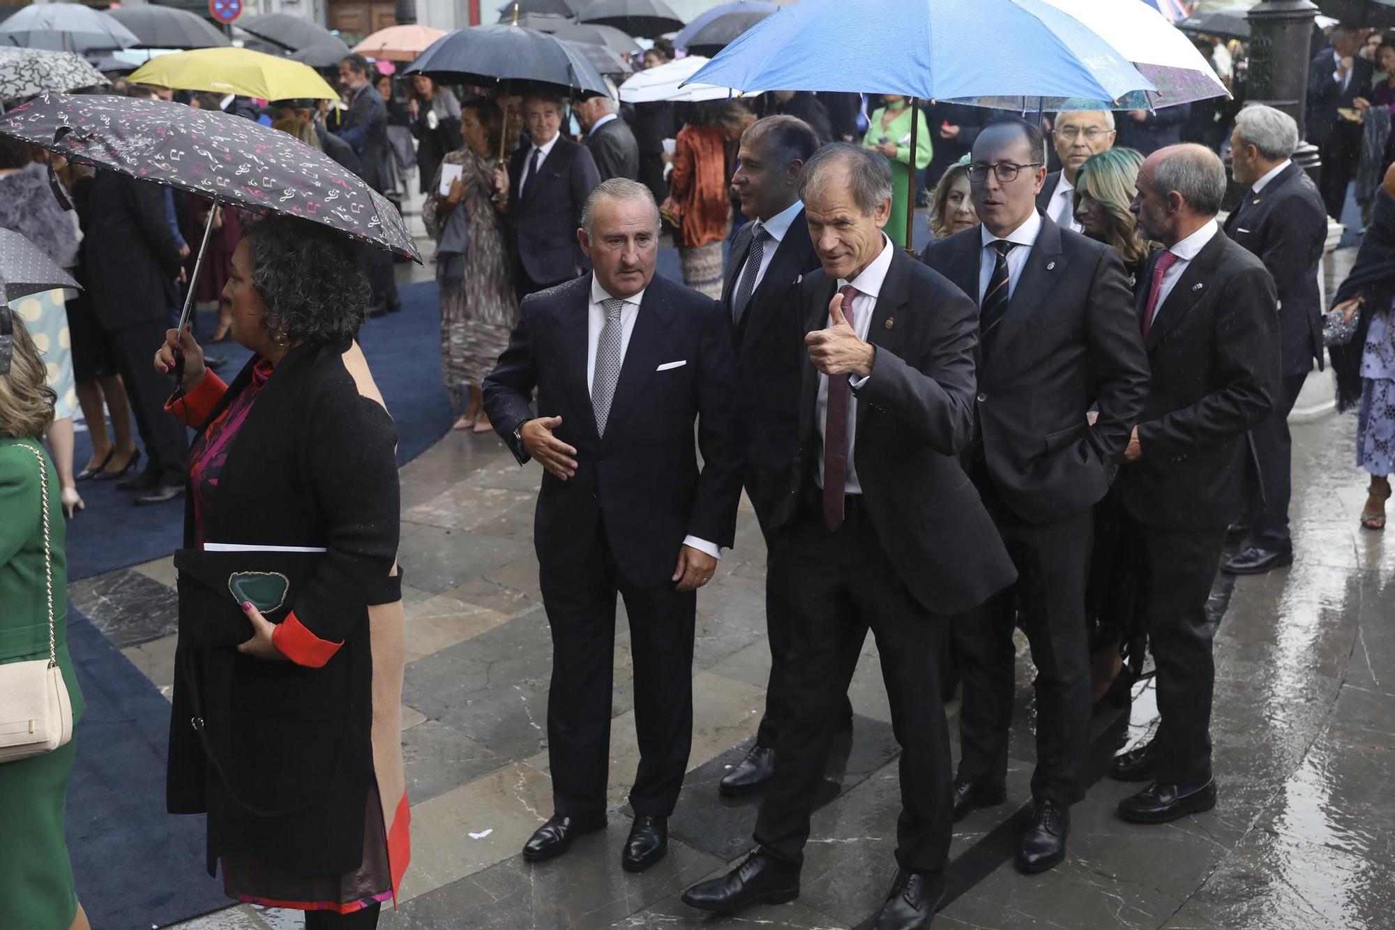
[{"label": "dark suit jacket with white pocket square, on grey-tied man", "polygon": [[[561,416],[554,434],[576,450],[576,475],[564,482],[544,472],[537,496],[533,542],[547,581],[569,582],[604,526],[631,584],[668,584],[686,536],[717,546],[735,536],[741,434],[731,323],[716,300],[654,275],[601,437],[586,385],[590,295],[587,274],[523,299],[509,348],[484,380],[484,409],[526,462],[513,431],[533,419],[536,390],[537,416]],[[674,362],[684,364],[658,370]]]}]

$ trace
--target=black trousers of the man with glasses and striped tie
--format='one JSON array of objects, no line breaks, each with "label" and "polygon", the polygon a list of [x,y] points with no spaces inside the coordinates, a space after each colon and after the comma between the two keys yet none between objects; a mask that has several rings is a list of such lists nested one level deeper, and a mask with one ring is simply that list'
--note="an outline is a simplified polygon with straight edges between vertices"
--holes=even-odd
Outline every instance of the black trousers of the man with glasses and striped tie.
[{"label": "black trousers of the man with glasses and striped tie", "polygon": [[1013,627],[1021,606],[1036,666],[1032,797],[1074,804],[1084,796],[1081,769],[1089,751],[1085,580],[1094,511],[1055,524],[1028,524],[1002,503],[986,472],[975,475],[974,483],[1017,567],[1017,582],[954,619],[954,655],[964,686],[958,778],[997,783],[1007,778],[1016,698]]}]

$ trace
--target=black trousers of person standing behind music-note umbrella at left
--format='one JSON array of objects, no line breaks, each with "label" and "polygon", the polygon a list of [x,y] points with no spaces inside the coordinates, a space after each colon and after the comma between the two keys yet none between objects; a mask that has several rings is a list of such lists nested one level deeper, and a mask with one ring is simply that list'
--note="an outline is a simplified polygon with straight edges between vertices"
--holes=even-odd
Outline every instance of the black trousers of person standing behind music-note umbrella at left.
[{"label": "black trousers of person standing behind music-note umbrella at left", "polygon": [[106,335],[145,445],[145,475],[160,485],[183,485],[188,478],[188,433],[165,412],[174,383],[155,370],[155,350],[165,344],[169,328],[165,320],[149,320],[107,330]]}]

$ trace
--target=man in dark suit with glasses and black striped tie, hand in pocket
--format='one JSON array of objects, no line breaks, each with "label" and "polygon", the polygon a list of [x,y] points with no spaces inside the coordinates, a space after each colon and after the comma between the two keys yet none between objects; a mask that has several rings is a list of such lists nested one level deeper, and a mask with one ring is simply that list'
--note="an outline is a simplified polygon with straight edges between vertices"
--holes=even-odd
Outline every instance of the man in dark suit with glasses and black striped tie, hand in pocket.
[{"label": "man in dark suit with glasses and black striped tie, hand in pocket", "polygon": [[1041,128],[993,123],[979,133],[972,158],[970,187],[982,226],[930,243],[925,264],[978,299],[978,436],[965,461],[1018,584],[954,623],[964,683],[954,817],[1007,796],[1021,605],[1038,721],[1035,806],[1017,867],[1043,871],[1064,859],[1070,806],[1084,796],[1094,505],[1143,411],[1148,360],[1119,253],[1036,209],[1046,177]]}]

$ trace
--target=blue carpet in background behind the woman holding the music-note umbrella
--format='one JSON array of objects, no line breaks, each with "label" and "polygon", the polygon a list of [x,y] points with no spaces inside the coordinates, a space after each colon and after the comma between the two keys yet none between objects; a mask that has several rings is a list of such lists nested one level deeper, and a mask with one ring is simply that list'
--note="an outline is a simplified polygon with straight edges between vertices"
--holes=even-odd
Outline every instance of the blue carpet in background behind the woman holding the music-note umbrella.
[{"label": "blue carpet in background behind the woman holding the music-note umbrella", "polygon": [[[441,311],[437,285],[424,281],[399,288],[402,313],[364,324],[359,335],[372,377],[398,423],[398,464],[431,447],[451,427],[451,404],[441,383]],[[199,332],[212,331],[213,314],[199,314]],[[220,374],[232,380],[250,357],[233,341],[205,345],[209,355],[226,355]],[[151,346],[155,353],[156,346]],[[74,468],[92,454],[85,431],[78,433]],[[114,482],[80,485],[86,510],[68,524],[68,577],[74,581],[162,559],[179,549],[184,501],[135,507],[131,494]]]}]

